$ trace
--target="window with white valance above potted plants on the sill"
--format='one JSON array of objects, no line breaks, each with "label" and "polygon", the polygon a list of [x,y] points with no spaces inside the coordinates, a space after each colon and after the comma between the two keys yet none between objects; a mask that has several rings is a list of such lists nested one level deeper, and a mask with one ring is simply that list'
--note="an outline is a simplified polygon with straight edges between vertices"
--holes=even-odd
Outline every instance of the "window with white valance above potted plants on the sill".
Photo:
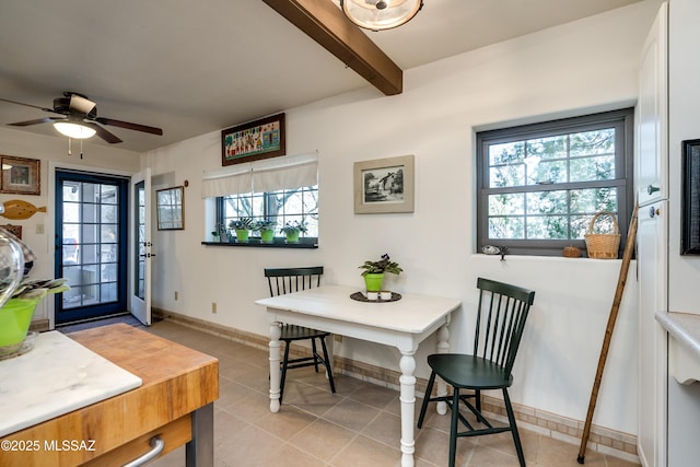
[{"label": "window with white valance above potted plants on the sill", "polygon": [[217,222],[228,226],[233,220],[250,218],[253,221],[277,220],[275,235],[282,237],[280,229],[290,222],[304,223],[306,233],[302,242],[318,240],[318,185],[268,192],[248,192],[217,198]]}]

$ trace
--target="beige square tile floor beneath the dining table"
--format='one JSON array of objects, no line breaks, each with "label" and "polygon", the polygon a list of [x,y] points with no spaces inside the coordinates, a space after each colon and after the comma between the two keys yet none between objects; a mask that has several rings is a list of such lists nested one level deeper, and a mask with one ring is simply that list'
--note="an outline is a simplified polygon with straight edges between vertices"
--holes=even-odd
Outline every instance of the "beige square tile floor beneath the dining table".
[{"label": "beige square tile floor beneath the dining table", "polygon": [[[314,373],[313,367],[298,369],[288,375],[281,410],[271,413],[267,351],[167,320],[155,323],[148,330],[219,359],[220,397],[214,402],[215,467],[400,466],[398,392],[338,375],[338,392],[334,395],[323,374]],[[430,411],[423,429],[416,430],[417,467],[447,465],[448,427],[448,417]],[[579,445],[524,429],[520,432],[528,466],[579,466]],[[458,440],[457,465],[517,466],[511,434]],[[588,467],[633,465],[595,451],[586,452],[585,466]],[[180,447],[150,466],[185,466],[185,448]]]}]

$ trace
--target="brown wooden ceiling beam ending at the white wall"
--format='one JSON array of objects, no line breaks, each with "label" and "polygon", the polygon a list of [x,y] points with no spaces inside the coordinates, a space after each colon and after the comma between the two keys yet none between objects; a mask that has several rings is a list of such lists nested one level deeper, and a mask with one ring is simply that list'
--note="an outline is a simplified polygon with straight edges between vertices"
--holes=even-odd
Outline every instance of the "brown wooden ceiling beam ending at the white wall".
[{"label": "brown wooden ceiling beam ending at the white wall", "polygon": [[404,72],[330,0],[262,0],[385,95],[400,94]]}]

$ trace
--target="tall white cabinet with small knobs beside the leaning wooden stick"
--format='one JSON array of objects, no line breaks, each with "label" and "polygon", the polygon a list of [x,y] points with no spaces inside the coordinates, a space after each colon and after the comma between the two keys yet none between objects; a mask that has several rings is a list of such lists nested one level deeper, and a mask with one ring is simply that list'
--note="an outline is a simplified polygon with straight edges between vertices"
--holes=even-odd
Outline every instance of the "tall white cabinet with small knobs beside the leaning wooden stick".
[{"label": "tall white cabinet with small knobs beside the leaning wooden stick", "polygon": [[652,25],[640,63],[635,187],[639,290],[638,454],[645,467],[667,459],[667,335],[655,319],[668,311],[668,3]]}]

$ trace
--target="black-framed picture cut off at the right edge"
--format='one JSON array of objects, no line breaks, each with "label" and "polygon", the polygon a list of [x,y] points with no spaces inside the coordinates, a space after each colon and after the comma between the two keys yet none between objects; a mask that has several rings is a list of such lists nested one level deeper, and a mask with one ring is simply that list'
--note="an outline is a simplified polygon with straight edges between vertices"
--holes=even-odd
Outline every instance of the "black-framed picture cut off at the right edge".
[{"label": "black-framed picture cut off at the right edge", "polygon": [[700,255],[700,139],[682,142],[680,254]]}]

